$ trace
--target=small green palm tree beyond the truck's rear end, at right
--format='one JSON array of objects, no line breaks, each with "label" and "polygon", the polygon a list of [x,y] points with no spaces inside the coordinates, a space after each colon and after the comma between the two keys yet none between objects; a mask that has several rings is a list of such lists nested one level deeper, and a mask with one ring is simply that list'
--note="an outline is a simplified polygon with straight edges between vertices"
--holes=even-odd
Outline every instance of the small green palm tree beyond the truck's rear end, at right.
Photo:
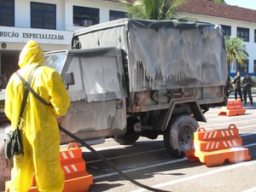
[{"label": "small green palm tree beyond the truck's rear end, at right", "polygon": [[228,65],[236,59],[238,64],[243,64],[248,60],[246,44],[242,38],[225,37],[225,48]]}]

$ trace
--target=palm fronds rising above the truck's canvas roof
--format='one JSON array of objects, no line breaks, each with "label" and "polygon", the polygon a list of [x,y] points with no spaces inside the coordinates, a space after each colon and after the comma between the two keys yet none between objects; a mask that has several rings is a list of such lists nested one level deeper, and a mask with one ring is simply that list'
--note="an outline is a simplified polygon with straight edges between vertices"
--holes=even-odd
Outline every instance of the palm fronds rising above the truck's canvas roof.
[{"label": "palm fronds rising above the truck's canvas roof", "polygon": [[120,0],[125,6],[125,12],[129,18],[143,20],[171,20],[177,17],[177,8],[187,0],[136,0],[129,3]]}]

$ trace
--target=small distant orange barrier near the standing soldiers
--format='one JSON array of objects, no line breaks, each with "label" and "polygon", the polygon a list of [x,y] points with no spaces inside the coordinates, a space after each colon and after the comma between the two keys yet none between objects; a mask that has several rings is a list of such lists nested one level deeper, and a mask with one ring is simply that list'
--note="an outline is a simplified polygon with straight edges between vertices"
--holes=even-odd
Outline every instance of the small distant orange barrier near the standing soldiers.
[{"label": "small distant orange barrier near the standing soldiers", "polygon": [[246,109],[242,108],[241,100],[229,100],[228,104],[226,107],[222,107],[218,115],[225,114],[228,117],[230,116],[235,116],[235,115],[240,115],[246,113]]}]

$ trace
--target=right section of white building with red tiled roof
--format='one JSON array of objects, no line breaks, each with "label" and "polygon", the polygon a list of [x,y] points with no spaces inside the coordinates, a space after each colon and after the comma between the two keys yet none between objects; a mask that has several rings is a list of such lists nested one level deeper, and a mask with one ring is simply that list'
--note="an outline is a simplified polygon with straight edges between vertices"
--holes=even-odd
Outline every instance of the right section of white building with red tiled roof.
[{"label": "right section of white building with red tiled roof", "polygon": [[223,26],[224,34],[233,38],[243,38],[247,46],[249,58],[244,65],[236,61],[230,65],[230,76],[240,71],[256,74],[256,10],[244,9],[222,3],[212,3],[210,0],[189,0],[180,9],[180,17],[194,17],[204,22],[217,23]]}]

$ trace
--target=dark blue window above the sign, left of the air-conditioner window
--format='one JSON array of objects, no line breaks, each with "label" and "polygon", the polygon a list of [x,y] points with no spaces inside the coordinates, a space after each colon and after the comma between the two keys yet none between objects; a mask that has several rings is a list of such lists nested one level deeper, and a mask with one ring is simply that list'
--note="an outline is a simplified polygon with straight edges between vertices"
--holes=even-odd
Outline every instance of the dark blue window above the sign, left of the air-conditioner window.
[{"label": "dark blue window above the sign, left of the air-conditioner window", "polygon": [[41,29],[56,29],[56,5],[32,2],[31,27]]}]

